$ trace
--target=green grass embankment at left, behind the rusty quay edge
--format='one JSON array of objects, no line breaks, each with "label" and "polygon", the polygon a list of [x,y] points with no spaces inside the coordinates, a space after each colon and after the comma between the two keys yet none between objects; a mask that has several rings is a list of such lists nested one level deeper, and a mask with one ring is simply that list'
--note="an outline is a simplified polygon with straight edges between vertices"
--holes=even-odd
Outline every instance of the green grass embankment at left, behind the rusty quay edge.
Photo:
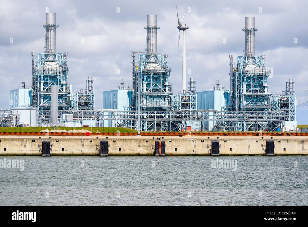
[{"label": "green grass embankment at left, behind the rusty quay edge", "polygon": [[[0,127],[0,132],[40,132],[41,130],[54,130],[53,127]],[[60,130],[88,130],[91,132],[137,132],[136,130],[129,128],[112,128],[112,127],[58,127],[58,131]]]}]

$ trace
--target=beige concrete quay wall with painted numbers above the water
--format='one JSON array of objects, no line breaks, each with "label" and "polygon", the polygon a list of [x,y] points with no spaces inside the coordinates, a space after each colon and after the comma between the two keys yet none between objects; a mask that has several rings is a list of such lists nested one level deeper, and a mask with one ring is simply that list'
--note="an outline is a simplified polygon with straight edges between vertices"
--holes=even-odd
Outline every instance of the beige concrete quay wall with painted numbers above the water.
[{"label": "beige concrete quay wall with painted numbers above the water", "polygon": [[[1,138],[0,156],[41,155],[43,139]],[[157,138],[108,138],[106,139],[108,155],[153,155],[155,139]],[[213,139],[219,140],[220,155],[263,155],[266,148],[266,138],[173,137],[164,138],[165,155],[209,155]],[[58,137],[49,140],[51,155],[98,155],[99,138]],[[308,138],[273,138],[273,140],[275,155],[308,155]]]}]

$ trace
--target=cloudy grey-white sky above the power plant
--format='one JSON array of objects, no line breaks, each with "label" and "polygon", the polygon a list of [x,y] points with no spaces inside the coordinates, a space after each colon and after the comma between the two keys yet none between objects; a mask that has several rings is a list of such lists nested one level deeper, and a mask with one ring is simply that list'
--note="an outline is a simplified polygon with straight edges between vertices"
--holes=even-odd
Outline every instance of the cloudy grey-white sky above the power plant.
[{"label": "cloudy grey-white sky above the power plant", "polygon": [[[308,101],[308,17],[306,1],[12,1],[0,2],[0,108],[9,106],[9,91],[22,77],[31,83],[31,55],[44,52],[45,12],[56,13],[56,51],[68,52],[68,82],[73,91],[85,89],[87,76],[95,78],[95,108],[102,93],[115,89],[123,78],[132,84],[131,51],[146,47],[147,15],[157,15],[157,52],[168,53],[173,91],[181,88],[181,58],[177,67],[176,4],[186,32],[187,68],[197,90],[212,89],[217,79],[229,89],[229,54],[243,55],[245,17],[255,17],[256,55],[265,55],[273,78],[270,92],[285,90],[295,80],[298,104]],[[10,43],[13,38],[13,43]],[[294,39],[297,38],[297,43]],[[84,43],[81,42],[84,40]],[[226,43],[223,41],[226,40]],[[181,42],[180,42],[181,45]],[[181,48],[180,48],[181,50]],[[181,51],[180,51],[181,54]],[[120,74],[117,74],[118,69]],[[301,107],[300,107],[301,106]],[[307,124],[302,105],[298,124]]]}]

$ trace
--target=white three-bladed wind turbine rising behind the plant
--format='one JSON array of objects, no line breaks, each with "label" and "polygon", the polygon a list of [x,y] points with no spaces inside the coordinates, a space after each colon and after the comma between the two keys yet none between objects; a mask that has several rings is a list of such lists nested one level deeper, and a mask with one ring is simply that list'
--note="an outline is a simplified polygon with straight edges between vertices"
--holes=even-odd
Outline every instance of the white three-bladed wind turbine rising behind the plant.
[{"label": "white three-bladed wind turbine rising behind the plant", "polygon": [[[188,10],[188,8],[187,8]],[[186,93],[187,90],[187,86],[186,86],[186,41],[185,41],[185,30],[188,29],[188,26],[183,25],[183,20],[185,17],[185,14],[187,12],[187,10],[184,13],[183,19],[180,21],[179,19],[179,14],[177,13],[177,5],[176,5],[176,15],[177,15],[177,21],[179,22],[179,26],[177,27],[179,29],[179,42],[177,44],[177,48],[179,49],[179,45],[180,45],[180,35],[181,35],[181,31],[183,31],[183,68],[182,68],[182,93]]]}]

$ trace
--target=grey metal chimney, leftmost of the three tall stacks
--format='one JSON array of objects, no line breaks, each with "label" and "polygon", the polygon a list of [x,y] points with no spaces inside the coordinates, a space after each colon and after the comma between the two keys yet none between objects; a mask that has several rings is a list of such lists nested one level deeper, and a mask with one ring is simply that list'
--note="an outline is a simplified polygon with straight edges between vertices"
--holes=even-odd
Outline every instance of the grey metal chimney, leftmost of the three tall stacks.
[{"label": "grey metal chimney, leftmost of the three tall stacks", "polygon": [[47,13],[46,22],[43,25],[46,28],[45,35],[45,53],[55,54],[56,53],[56,28],[59,25],[56,25],[56,14]]}]

